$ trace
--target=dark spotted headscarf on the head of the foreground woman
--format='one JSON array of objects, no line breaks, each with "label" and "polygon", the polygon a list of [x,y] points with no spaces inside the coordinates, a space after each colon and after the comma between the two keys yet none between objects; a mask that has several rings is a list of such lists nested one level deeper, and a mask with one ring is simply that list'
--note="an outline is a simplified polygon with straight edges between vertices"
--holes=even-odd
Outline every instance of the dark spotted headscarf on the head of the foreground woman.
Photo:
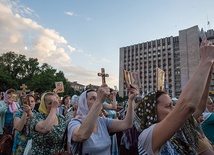
[{"label": "dark spotted headscarf on the head of the foreground woman", "polygon": [[152,91],[144,96],[142,102],[139,104],[136,110],[137,116],[141,119],[141,130],[150,127],[157,121],[156,110],[156,92]]}]

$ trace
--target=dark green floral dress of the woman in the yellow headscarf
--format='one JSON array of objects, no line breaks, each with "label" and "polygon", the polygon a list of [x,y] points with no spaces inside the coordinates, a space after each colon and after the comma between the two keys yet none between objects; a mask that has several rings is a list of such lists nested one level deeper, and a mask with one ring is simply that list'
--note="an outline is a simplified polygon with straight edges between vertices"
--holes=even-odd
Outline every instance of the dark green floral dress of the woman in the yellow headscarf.
[{"label": "dark green floral dress of the woman in the yellow headscarf", "polygon": [[32,137],[32,149],[31,155],[53,155],[55,150],[60,150],[63,134],[66,130],[65,117],[57,115],[58,125],[54,125],[52,130],[47,134],[42,134],[35,130],[35,126],[38,122],[44,121],[46,115],[43,113],[37,113],[32,118],[30,125],[30,134]]}]

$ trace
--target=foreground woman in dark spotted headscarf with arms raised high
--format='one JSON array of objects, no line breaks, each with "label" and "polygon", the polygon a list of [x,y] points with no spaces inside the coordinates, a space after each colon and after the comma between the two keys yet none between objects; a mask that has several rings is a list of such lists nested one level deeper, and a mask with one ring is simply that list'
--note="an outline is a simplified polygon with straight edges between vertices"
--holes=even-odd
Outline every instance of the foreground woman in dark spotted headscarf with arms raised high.
[{"label": "foreground woman in dark spotted headscarf with arms raised high", "polygon": [[[143,131],[139,136],[139,149],[154,154],[198,154],[200,138],[195,130],[195,118],[205,109],[214,62],[214,46],[203,40],[201,60],[194,75],[173,106],[170,96],[162,91],[150,92],[139,105]],[[194,115],[194,117],[193,117]],[[200,147],[200,146],[198,146]],[[201,154],[213,154],[207,148]]]}]

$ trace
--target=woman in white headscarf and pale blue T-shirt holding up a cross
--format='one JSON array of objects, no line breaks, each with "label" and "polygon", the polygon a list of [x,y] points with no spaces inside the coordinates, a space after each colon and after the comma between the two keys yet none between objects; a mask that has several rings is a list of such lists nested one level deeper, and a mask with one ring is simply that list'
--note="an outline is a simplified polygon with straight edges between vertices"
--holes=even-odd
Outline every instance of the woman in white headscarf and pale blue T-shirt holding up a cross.
[{"label": "woman in white headscarf and pale blue T-shirt holding up a cross", "polygon": [[82,154],[110,155],[111,139],[109,133],[119,132],[132,127],[134,98],[138,90],[129,89],[129,105],[124,120],[110,119],[100,115],[103,102],[110,90],[103,84],[97,92],[87,90],[79,97],[77,116],[68,125],[68,142],[83,142]]}]

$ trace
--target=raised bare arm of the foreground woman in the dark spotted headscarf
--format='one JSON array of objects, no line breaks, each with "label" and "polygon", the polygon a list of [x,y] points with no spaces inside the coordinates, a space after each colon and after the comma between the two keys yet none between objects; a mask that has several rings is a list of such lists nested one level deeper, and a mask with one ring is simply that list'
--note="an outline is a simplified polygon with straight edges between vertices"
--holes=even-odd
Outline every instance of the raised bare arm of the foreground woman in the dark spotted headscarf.
[{"label": "raised bare arm of the foreground woman in the dark spotted headscarf", "polygon": [[152,137],[154,153],[157,153],[160,147],[179,130],[199,105],[213,65],[214,46],[203,45],[200,47],[200,53],[200,63],[182,91],[175,108],[154,128]]}]

